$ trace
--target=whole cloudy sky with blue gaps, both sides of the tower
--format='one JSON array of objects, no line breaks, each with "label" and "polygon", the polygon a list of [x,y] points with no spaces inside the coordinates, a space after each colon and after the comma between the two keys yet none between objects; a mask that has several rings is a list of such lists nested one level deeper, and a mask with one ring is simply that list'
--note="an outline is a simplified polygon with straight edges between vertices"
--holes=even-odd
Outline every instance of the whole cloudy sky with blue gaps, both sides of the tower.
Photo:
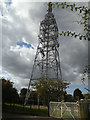
[{"label": "whole cloudy sky with blue gaps, both sides of the tower", "polygon": [[[0,28],[2,27],[0,77],[13,81],[14,87],[19,91],[29,83],[38,45],[40,21],[47,13],[47,3],[7,1],[0,4]],[[88,5],[77,3],[80,4]],[[84,34],[83,26],[76,22],[80,20],[78,12],[54,8],[53,13],[59,32],[71,30]],[[59,37],[58,41],[62,76],[71,83],[67,92],[72,93],[75,88],[80,88],[85,93],[81,78],[84,66],[88,63],[88,42],[63,36]],[[87,83],[86,81],[86,85]]]}]

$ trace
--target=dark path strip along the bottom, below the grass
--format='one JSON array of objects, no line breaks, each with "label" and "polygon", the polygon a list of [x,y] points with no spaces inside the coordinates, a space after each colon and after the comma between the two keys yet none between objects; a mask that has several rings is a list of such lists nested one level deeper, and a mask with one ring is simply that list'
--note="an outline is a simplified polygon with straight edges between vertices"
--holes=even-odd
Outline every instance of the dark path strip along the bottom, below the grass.
[{"label": "dark path strip along the bottom, below the grass", "polygon": [[61,119],[41,116],[3,114],[2,120],[61,120]]}]

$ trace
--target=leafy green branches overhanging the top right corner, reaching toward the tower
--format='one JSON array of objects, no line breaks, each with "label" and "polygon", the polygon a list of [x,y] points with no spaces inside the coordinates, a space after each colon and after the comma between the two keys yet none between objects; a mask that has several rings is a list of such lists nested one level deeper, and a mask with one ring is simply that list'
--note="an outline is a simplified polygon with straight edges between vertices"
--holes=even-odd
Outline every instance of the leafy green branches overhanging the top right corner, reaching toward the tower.
[{"label": "leafy green branches overhanging the top right corner, reaching toward the tower", "polygon": [[61,35],[71,36],[71,37],[73,36],[75,38],[78,37],[80,40],[89,39],[90,26],[88,25],[88,20],[89,20],[90,9],[88,9],[88,7],[86,7],[86,6],[76,6],[75,3],[67,4],[66,2],[62,2],[62,3],[56,2],[56,3],[52,3],[52,5],[53,5],[53,8],[55,8],[55,7],[62,8],[62,9],[69,8],[71,11],[79,12],[81,20],[77,21],[77,23],[84,26],[85,35],[82,35],[81,33],[72,32],[72,31],[62,31],[61,33],[59,33],[60,36]]}]

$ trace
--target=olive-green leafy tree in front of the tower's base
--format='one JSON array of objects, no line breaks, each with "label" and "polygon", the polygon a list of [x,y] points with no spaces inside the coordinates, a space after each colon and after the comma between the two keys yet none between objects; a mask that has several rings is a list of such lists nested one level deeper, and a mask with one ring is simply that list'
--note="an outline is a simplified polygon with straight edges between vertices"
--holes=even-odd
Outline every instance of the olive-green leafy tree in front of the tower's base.
[{"label": "olive-green leafy tree in front of the tower's base", "polygon": [[49,101],[61,101],[62,95],[65,94],[61,89],[65,90],[70,83],[63,82],[62,80],[51,80],[49,78],[42,77],[38,79],[32,86],[37,91],[40,100],[44,105],[48,105]]}]

